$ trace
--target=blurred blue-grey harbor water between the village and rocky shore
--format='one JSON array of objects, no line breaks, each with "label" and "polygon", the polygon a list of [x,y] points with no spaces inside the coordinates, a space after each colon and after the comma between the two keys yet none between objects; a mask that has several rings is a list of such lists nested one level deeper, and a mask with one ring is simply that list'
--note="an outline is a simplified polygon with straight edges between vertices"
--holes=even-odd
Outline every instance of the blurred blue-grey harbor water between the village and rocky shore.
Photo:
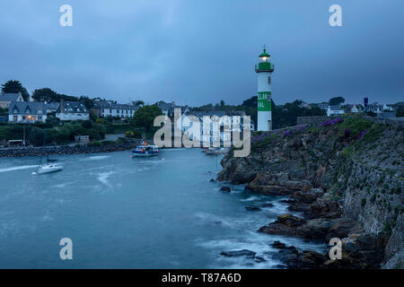
[{"label": "blurred blue-grey harbor water between the village and rocky shore", "polygon": [[[271,247],[301,239],[261,234],[287,212],[283,198],[214,182],[221,156],[167,149],[153,158],[130,151],[54,156],[65,169],[32,175],[38,158],[0,159],[0,268],[277,268]],[[248,211],[246,206],[272,207]],[[59,256],[73,241],[73,259]],[[249,249],[265,261],[223,257]]]}]

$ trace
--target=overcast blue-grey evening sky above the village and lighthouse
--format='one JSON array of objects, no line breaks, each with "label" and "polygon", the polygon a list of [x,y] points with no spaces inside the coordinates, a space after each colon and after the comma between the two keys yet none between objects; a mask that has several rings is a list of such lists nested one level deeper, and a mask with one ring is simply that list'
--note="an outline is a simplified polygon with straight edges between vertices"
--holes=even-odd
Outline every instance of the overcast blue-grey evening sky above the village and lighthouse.
[{"label": "overcast blue-grey evening sky above the village and lighthouse", "polygon": [[241,104],[266,44],[276,104],[404,100],[402,0],[2,0],[0,23],[0,83],[30,93]]}]

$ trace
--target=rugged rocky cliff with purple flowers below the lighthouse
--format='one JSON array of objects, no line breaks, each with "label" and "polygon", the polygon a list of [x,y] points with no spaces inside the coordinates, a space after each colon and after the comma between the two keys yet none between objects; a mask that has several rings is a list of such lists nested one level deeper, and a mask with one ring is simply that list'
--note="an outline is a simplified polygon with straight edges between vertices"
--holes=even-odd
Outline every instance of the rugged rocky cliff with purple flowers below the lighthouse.
[{"label": "rugged rocky cliff with purple flowers below the lighthouse", "polygon": [[303,214],[283,214],[261,232],[342,239],[343,259],[319,262],[319,256],[318,267],[402,268],[402,133],[400,125],[350,117],[257,134],[248,157],[224,157],[218,179],[290,196],[290,211]]}]

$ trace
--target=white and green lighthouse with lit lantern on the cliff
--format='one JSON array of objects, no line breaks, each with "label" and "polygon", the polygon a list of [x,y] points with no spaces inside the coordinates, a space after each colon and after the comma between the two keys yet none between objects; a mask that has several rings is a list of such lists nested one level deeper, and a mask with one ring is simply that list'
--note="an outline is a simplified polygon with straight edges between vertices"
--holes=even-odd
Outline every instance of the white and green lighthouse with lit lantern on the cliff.
[{"label": "white and green lighthouse with lit lantern on the cliff", "polygon": [[259,64],[255,65],[258,75],[258,124],[257,131],[268,132],[272,129],[271,114],[271,74],[274,65],[269,63],[269,54],[264,45],[264,51],[259,55]]}]

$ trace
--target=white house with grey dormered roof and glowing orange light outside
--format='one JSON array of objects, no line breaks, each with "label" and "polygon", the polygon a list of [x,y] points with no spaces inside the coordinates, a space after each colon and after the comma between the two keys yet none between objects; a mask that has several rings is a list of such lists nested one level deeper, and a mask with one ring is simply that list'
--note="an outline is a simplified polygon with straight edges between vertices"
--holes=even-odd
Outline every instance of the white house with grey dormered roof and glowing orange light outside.
[{"label": "white house with grey dormered roof and glowing orange light outside", "polygon": [[8,109],[8,121],[11,123],[45,122],[47,107],[43,102],[12,101]]}]

